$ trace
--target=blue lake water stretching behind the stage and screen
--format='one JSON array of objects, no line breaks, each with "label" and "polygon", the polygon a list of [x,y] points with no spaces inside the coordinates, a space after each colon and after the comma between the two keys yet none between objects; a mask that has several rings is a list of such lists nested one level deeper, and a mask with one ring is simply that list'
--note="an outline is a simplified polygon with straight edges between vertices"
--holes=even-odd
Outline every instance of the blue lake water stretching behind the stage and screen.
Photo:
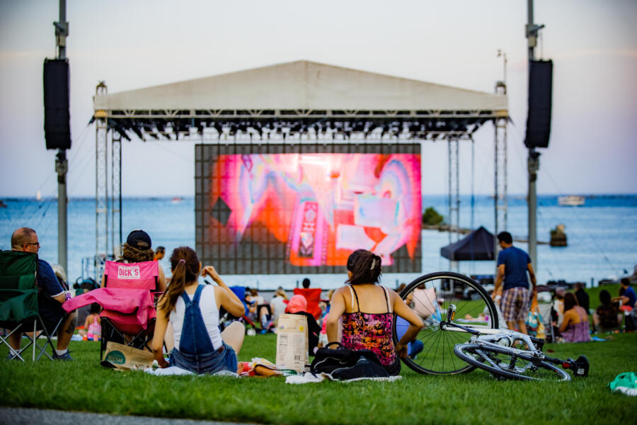
[{"label": "blue lake water stretching behind the stage and screen", "polygon": [[[7,208],[0,208],[0,248],[10,249],[11,232],[21,226],[38,231],[40,256],[50,263],[57,262],[57,201],[33,199],[5,199]],[[424,196],[423,210],[433,206],[447,216],[447,196]],[[125,198],[122,206],[124,238],[131,229],[146,230],[153,246],[163,245],[170,251],[180,245],[195,246],[194,198],[179,203],[170,198]],[[493,199],[476,196],[461,197],[460,225],[484,226],[493,232]],[[633,272],[637,264],[637,196],[587,196],[581,207],[561,207],[556,196],[538,197],[537,239],[548,242],[550,230],[558,224],[566,225],[568,246],[537,246],[539,283],[564,279],[583,281],[590,285],[602,278],[617,278]],[[74,282],[82,274],[82,259],[96,251],[95,200],[71,199],[68,209],[68,277]],[[515,237],[527,237],[527,203],[523,196],[510,196],[507,229]],[[440,256],[440,248],[449,244],[449,235],[435,230],[423,230],[423,273],[449,270],[449,261]],[[527,245],[515,243],[524,250]],[[168,259],[161,262],[169,274]],[[223,265],[215,264],[223,276]],[[459,271],[464,274],[488,274],[495,271],[493,261],[461,261]],[[383,283],[389,287],[413,280],[418,273],[387,274]],[[272,289],[279,285],[293,288],[304,276],[224,276],[226,283]],[[310,275],[313,285],[337,288],[345,280],[343,275]]]}]

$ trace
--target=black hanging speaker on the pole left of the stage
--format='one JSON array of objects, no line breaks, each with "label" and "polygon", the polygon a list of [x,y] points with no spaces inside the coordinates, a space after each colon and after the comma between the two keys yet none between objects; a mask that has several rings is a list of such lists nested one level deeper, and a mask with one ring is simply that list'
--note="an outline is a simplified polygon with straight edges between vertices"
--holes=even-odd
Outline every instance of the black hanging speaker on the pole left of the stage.
[{"label": "black hanging speaker on the pole left of the stage", "polygon": [[69,61],[45,59],[43,80],[47,149],[71,149]]}]

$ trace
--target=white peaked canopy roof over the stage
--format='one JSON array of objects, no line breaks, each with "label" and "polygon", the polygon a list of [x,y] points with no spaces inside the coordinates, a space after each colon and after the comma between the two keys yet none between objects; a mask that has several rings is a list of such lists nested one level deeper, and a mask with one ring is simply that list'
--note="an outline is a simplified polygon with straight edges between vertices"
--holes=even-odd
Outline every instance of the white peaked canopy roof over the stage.
[{"label": "white peaked canopy roof over the stage", "polygon": [[490,111],[487,115],[502,117],[507,115],[507,96],[300,60],[97,95],[94,109],[107,115],[130,111],[124,114],[129,118],[146,115],[141,111],[200,115],[196,110],[410,111],[405,115],[412,116],[425,111]]}]

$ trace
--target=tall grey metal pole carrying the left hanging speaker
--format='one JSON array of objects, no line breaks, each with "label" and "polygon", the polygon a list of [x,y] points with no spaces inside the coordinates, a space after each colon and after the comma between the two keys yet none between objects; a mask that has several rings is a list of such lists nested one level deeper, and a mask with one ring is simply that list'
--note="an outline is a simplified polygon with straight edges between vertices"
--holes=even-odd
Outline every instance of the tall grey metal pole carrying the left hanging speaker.
[{"label": "tall grey metal pole carrying the left hanging speaker", "polygon": [[[55,44],[57,45],[57,58],[67,58],[67,35],[69,35],[69,23],[67,23],[67,2],[59,0],[59,21],[53,23],[55,27]],[[67,268],[67,162],[66,149],[58,149],[55,157],[55,171],[57,171],[57,262],[68,274]]]}]

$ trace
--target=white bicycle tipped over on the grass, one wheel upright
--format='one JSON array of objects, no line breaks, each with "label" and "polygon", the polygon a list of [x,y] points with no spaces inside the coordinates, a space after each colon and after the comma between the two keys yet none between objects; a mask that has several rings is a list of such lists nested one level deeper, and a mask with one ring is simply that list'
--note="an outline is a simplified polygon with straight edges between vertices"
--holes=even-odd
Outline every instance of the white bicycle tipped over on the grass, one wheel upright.
[{"label": "white bicycle tipped over on the grass, one wheel upright", "polygon": [[[425,319],[425,329],[417,337],[424,344],[422,353],[403,358],[419,373],[454,374],[481,368],[499,379],[556,381],[570,380],[566,370],[579,377],[588,375],[586,356],[552,358],[542,352],[544,339],[499,329],[493,300],[471,278],[430,273],[410,283],[401,297]],[[400,329],[394,322],[396,338]]]}]

